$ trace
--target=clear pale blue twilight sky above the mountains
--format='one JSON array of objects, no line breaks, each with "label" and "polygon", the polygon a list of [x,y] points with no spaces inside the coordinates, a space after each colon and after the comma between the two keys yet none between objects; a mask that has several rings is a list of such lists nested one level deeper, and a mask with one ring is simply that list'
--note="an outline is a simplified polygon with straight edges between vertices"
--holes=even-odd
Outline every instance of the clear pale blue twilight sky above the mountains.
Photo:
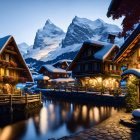
[{"label": "clear pale blue twilight sky above the mountains", "polygon": [[0,37],[13,35],[16,42],[32,45],[36,31],[49,18],[65,32],[75,16],[107,23],[121,21],[107,18],[111,0],[0,0]]}]

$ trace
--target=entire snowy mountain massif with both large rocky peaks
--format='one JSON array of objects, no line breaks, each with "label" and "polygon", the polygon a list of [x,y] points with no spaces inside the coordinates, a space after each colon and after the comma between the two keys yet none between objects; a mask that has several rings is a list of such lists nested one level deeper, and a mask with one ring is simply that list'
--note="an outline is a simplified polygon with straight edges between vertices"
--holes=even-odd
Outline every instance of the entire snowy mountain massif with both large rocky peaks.
[{"label": "entire snowy mountain massif with both large rocky peaks", "polygon": [[[55,62],[60,59],[73,59],[85,40],[107,42],[109,33],[117,35],[121,29],[101,19],[95,21],[75,17],[65,34],[60,28],[47,21],[43,29],[38,30],[33,49],[26,55],[41,61]],[[115,39],[121,44],[123,39]]]}]

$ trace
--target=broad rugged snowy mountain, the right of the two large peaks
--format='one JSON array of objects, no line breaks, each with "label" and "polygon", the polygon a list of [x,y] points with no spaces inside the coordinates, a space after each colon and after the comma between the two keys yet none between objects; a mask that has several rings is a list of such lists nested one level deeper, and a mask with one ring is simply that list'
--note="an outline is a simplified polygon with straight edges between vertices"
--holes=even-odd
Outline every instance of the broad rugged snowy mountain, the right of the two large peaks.
[{"label": "broad rugged snowy mountain, the right of the two large peaks", "polygon": [[91,21],[76,16],[68,27],[66,37],[62,41],[62,48],[79,44],[89,39],[106,42],[109,33],[117,35],[120,31],[121,29],[118,26],[107,24],[101,19]]}]

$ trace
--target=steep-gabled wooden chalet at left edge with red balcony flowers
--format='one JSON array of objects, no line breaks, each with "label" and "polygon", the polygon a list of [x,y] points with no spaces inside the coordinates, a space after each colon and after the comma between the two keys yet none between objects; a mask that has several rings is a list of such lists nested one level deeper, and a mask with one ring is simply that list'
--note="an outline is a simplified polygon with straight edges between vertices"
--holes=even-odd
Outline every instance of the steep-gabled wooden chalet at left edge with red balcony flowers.
[{"label": "steep-gabled wooden chalet at left edge with red balcony flowers", "polygon": [[12,36],[0,38],[0,93],[12,94],[18,83],[32,82],[32,75]]}]

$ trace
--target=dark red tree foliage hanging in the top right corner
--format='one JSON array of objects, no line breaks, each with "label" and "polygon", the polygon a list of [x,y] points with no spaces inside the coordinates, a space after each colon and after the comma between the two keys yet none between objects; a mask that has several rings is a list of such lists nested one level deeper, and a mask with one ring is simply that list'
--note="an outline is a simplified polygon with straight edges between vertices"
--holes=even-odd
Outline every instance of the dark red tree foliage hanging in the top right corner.
[{"label": "dark red tree foliage hanging in the top right corner", "polygon": [[117,8],[109,12],[107,15],[115,20],[122,16],[124,19],[122,21],[123,31],[119,33],[120,37],[127,37],[129,35],[128,31],[134,30],[134,25],[140,23],[140,0],[120,0]]}]

